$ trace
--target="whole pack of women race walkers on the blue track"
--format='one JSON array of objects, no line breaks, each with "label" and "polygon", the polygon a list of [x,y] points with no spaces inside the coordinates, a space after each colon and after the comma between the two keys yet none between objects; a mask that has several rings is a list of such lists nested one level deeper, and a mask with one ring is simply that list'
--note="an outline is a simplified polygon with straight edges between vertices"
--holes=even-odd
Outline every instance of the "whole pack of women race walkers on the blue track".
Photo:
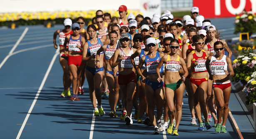
[{"label": "whole pack of women race walkers on the blue track", "polygon": [[[118,108],[120,119],[133,124],[134,107],[133,118],[154,126],[153,134],[167,130],[179,135],[186,89],[191,125],[226,133],[232,53],[211,21],[199,14],[198,7],[192,7],[191,16],[183,20],[174,20],[168,10],[152,19],[127,16],[125,5],[118,11],[119,18],[98,10],[87,30],[85,19],[78,17],[74,24],[65,19],[64,29],[55,31],[53,43],[57,49],[59,35],[64,72],[61,96],[79,101],[86,77],[94,116],[105,114],[101,100],[108,98],[110,117],[117,117]],[[214,126],[209,123],[212,119]]]}]

